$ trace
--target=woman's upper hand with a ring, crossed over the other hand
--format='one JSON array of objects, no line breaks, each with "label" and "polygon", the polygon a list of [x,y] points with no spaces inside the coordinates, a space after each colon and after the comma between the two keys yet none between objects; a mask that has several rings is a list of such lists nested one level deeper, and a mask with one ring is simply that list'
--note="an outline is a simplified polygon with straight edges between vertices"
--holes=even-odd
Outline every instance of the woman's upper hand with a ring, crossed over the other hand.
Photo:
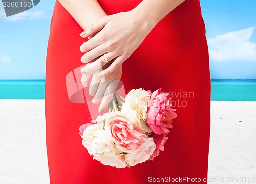
[{"label": "woman's upper hand with a ring, crossed over the other hand", "polygon": [[153,27],[148,21],[138,18],[138,13],[133,10],[103,17],[81,33],[83,38],[95,35],[81,45],[80,50],[85,53],[81,62],[89,63],[99,57],[81,72],[91,73],[100,69],[107,63],[100,57],[104,55],[108,61],[114,58],[115,61],[99,72],[98,77],[111,75],[132,55]]}]

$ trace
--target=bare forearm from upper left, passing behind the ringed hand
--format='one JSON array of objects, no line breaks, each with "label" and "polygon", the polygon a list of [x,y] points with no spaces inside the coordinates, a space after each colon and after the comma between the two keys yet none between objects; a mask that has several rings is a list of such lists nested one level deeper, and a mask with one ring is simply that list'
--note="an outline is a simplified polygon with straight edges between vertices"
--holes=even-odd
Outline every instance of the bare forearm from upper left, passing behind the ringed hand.
[{"label": "bare forearm from upper left, passing behind the ringed hand", "polygon": [[106,13],[97,0],[58,0],[85,30],[89,25],[100,20]]}]

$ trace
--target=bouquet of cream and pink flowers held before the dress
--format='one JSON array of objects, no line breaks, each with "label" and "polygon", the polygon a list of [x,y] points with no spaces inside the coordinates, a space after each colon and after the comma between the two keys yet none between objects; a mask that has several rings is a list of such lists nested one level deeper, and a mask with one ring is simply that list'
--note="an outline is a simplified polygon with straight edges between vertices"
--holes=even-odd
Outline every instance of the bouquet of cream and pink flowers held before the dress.
[{"label": "bouquet of cream and pink flowers held before the dress", "polygon": [[124,99],[116,92],[108,113],[80,126],[82,144],[94,159],[116,168],[154,160],[177,117],[168,95],[133,89]]}]

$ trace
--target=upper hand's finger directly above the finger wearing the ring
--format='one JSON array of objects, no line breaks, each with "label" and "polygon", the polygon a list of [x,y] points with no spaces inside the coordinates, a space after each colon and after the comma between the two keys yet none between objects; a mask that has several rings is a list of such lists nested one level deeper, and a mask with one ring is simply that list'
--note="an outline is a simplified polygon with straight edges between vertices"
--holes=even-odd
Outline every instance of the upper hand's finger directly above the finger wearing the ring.
[{"label": "upper hand's finger directly above the finger wearing the ring", "polygon": [[99,45],[92,50],[88,51],[81,57],[82,63],[89,63],[97,57],[101,57],[104,53],[108,52],[102,45]]}]

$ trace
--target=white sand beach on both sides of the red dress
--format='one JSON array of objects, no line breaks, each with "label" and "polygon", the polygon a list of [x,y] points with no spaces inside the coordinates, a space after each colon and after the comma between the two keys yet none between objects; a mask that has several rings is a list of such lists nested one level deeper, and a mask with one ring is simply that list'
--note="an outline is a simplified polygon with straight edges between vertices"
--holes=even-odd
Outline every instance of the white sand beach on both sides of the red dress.
[{"label": "white sand beach on both sides of the red dress", "polygon": [[[256,102],[212,101],[209,183],[253,183],[255,133]],[[44,100],[0,100],[0,183],[49,184],[45,140]]]}]

